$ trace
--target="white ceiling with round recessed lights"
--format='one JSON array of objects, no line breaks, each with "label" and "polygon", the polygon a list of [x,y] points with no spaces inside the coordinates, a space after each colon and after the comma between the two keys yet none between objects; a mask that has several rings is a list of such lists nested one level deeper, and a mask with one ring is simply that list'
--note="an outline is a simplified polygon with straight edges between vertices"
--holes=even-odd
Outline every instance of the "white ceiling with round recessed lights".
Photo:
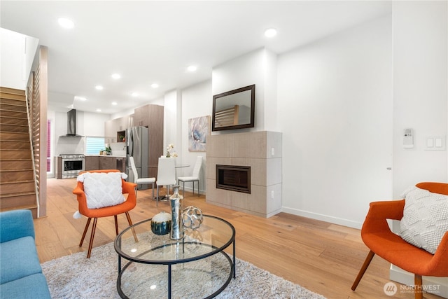
[{"label": "white ceiling with round recessed lights", "polygon": [[[1,0],[0,13],[0,27],[48,46],[53,109],[112,114],[208,80],[213,67],[252,50],[285,53],[387,15],[391,2]],[[73,29],[60,27],[61,17]],[[270,27],[278,34],[267,39]],[[191,64],[197,71],[186,71]]]}]

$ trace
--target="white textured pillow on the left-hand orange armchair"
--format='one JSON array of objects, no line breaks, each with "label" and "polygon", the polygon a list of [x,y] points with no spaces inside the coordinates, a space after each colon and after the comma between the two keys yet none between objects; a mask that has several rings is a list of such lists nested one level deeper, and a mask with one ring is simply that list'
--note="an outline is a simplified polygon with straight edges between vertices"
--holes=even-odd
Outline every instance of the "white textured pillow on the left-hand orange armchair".
[{"label": "white textured pillow on the left-hand orange armchair", "polygon": [[115,206],[125,202],[120,172],[85,172],[82,174],[89,209]]}]

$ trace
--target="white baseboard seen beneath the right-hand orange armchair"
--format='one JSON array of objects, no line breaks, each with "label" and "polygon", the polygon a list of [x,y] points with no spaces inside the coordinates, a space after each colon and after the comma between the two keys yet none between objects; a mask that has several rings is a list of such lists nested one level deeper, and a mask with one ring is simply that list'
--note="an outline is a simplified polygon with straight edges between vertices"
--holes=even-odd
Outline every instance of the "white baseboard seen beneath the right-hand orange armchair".
[{"label": "white baseboard seen beneath the right-hand orange armchair", "polygon": [[[414,285],[414,274],[406,272],[394,265],[391,265],[391,269],[389,270],[389,279],[407,286]],[[423,276],[423,290],[443,298],[448,298],[447,277]],[[409,293],[411,290],[409,288],[400,290],[400,287],[398,287],[398,291]]]}]

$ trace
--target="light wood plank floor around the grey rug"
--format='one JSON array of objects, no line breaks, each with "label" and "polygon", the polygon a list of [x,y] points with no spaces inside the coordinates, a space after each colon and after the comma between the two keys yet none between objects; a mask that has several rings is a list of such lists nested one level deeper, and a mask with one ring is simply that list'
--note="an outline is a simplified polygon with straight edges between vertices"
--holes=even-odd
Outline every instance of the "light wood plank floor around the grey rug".
[{"label": "light wood plank floor around the grey rug", "polygon": [[[71,190],[76,179],[48,179],[48,216],[34,221],[36,245],[41,263],[79,251],[87,251],[90,230],[79,247],[87,218],[74,219],[78,202]],[[165,189],[163,190],[165,194]],[[327,298],[390,298],[383,286],[388,282],[389,264],[375,256],[355,292],[350,287],[367,255],[360,231],[309,218],[280,213],[260,218],[205,202],[204,195],[186,193],[183,206],[195,205],[204,214],[224,218],[237,231],[237,258],[300,284]],[[130,212],[133,223],[169,212],[167,202],[151,200],[150,190],[139,190],[137,207]],[[118,216],[120,230],[127,226],[125,216]],[[94,246],[115,238],[113,217],[99,218]],[[231,251],[229,251],[231,253]],[[394,298],[414,298],[398,292]],[[424,298],[440,298],[424,294]]]}]

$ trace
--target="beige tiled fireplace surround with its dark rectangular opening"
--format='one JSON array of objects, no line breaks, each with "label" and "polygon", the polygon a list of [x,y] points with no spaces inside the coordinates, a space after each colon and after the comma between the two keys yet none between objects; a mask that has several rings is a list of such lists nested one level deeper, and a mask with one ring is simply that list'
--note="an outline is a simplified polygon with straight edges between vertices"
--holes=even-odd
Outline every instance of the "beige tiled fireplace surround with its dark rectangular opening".
[{"label": "beige tiled fireplace surround with its dark rectangular opening", "polygon": [[270,217],[281,211],[281,133],[207,137],[207,202]]}]

